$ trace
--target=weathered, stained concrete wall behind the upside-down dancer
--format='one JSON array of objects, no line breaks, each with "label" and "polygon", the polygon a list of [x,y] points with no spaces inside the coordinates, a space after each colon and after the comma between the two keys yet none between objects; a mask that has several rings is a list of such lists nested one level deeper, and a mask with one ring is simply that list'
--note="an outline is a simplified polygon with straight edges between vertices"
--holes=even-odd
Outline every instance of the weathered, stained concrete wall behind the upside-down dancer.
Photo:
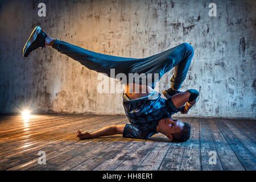
[{"label": "weathered, stained concrete wall behind the upside-down dancer", "polygon": [[[46,17],[38,4],[46,3]],[[90,51],[147,57],[187,42],[195,49],[181,90],[200,99],[185,117],[255,118],[255,1],[1,1],[0,112],[124,114],[122,94],[97,92],[98,73],[38,49],[22,57],[29,34],[48,35]],[[170,87],[173,70],[162,77]],[[118,82],[116,82],[118,84]]]}]

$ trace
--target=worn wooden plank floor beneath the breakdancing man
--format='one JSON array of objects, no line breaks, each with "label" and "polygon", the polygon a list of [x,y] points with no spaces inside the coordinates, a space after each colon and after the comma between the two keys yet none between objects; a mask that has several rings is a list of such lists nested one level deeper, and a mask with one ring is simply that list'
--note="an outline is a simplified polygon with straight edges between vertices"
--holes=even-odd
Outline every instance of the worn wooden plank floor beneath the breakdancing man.
[{"label": "worn wooden plank floor beneath the breakdancing man", "polygon": [[[29,121],[1,115],[0,170],[256,170],[255,121],[180,120],[192,126],[185,143],[162,134],[148,140],[75,136],[78,129],[127,123],[125,115],[32,115]],[[46,164],[38,163],[39,151],[46,152]]]}]

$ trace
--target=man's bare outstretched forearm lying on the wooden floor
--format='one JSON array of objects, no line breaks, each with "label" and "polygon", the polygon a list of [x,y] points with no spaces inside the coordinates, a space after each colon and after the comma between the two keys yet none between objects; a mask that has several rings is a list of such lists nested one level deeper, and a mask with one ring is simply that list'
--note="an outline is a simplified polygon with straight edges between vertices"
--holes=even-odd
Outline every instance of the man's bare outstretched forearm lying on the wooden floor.
[{"label": "man's bare outstretched forearm lying on the wooden floor", "polygon": [[116,134],[123,134],[123,129],[125,129],[125,125],[110,125],[106,126],[100,130],[94,131],[93,133],[89,132],[82,132],[80,130],[77,130],[76,137],[79,138],[96,138],[96,137],[102,137],[102,136],[108,136],[108,135],[116,135]]}]

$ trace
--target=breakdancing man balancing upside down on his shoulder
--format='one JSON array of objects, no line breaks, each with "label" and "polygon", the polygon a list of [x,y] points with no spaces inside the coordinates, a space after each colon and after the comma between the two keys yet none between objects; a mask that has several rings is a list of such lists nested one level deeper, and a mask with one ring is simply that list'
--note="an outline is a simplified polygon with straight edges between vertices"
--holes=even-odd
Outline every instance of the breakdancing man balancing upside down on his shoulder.
[{"label": "breakdancing man balancing upside down on his shoulder", "polygon": [[[187,114],[199,96],[199,92],[195,89],[179,91],[194,54],[193,47],[188,43],[150,57],[134,59],[104,55],[52,39],[37,26],[23,48],[23,56],[27,57],[31,51],[45,46],[55,48],[96,72],[110,76],[111,69],[114,69],[115,76],[123,73],[128,77],[128,79],[122,77],[120,80],[124,86],[123,107],[130,124],[106,126],[93,133],[86,131],[82,133],[78,130],[77,137],[95,138],[122,134],[126,138],[147,139],[156,133],[162,133],[177,142],[186,142],[189,139],[191,126],[171,118],[172,114],[179,111],[181,114]],[[163,91],[166,100],[160,97],[160,93],[154,91],[154,87],[155,82],[172,68],[175,69],[171,78],[171,88]],[[143,76],[134,76],[136,74],[143,75],[147,79],[150,77],[152,80],[144,82]]]}]

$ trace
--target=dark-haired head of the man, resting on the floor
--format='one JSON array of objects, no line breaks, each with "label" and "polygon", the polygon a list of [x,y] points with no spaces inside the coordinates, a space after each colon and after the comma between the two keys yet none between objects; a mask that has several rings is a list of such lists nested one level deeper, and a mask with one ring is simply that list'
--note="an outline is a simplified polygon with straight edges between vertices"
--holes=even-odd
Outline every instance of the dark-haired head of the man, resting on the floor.
[{"label": "dark-haired head of the man, resting on the floor", "polygon": [[186,142],[190,137],[191,126],[179,119],[164,118],[158,122],[158,132],[176,142]]}]

